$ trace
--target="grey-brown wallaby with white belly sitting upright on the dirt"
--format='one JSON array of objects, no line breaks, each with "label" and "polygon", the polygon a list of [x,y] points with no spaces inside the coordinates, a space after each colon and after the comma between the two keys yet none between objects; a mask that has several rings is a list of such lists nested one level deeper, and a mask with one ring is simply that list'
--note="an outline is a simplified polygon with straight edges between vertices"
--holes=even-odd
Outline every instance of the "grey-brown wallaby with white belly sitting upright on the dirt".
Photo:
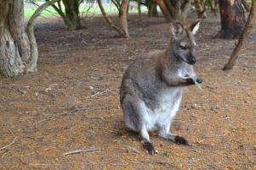
[{"label": "grey-brown wallaby with white belly sitting upright on the dirt", "polygon": [[151,155],[156,153],[148,133],[153,130],[159,130],[164,139],[189,145],[185,138],[171,134],[169,129],[179,110],[183,87],[202,83],[192,67],[196,63],[194,35],[199,25],[199,21],[186,27],[172,23],[167,50],[136,58],[123,75],[120,101],[124,122],[128,129],[139,133]]}]

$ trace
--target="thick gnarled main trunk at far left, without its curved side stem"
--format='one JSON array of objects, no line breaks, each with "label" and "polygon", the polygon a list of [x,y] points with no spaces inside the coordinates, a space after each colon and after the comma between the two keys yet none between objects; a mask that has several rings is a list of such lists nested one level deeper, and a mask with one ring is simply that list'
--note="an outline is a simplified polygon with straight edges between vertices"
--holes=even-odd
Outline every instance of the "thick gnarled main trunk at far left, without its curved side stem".
[{"label": "thick gnarled main trunk at far left, without its curved side stem", "polygon": [[3,0],[0,3],[0,72],[7,77],[23,74],[26,61],[31,58],[23,6],[23,1]]}]

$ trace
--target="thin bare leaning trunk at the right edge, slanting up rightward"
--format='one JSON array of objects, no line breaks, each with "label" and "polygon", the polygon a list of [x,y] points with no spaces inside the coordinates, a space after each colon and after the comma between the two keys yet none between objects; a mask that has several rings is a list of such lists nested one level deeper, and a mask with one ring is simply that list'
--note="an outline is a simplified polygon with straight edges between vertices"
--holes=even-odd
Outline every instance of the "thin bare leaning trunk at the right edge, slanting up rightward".
[{"label": "thin bare leaning trunk at the right edge, slanting up rightward", "polygon": [[240,39],[239,39],[239,41],[236,45],[236,48],[232,52],[229,62],[225,64],[225,66],[223,68],[224,70],[233,69],[233,67],[236,63],[236,59],[238,58],[238,54],[241,51],[241,48],[244,44],[244,41],[247,40],[247,36],[249,35],[250,31],[253,28],[253,19],[255,19],[255,17],[256,17],[255,8],[256,8],[255,0],[252,0],[252,7],[251,7],[251,10],[250,10],[250,14],[247,18],[247,23],[245,25],[245,28],[242,31],[242,36],[240,37]]}]

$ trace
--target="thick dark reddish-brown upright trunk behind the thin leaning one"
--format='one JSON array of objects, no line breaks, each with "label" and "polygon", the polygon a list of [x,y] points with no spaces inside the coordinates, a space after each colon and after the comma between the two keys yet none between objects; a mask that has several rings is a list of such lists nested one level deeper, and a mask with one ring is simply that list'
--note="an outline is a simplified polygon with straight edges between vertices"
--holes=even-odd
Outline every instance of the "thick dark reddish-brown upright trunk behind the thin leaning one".
[{"label": "thick dark reddish-brown upright trunk behind the thin leaning one", "polygon": [[225,39],[238,38],[245,26],[245,15],[241,0],[219,0],[221,30],[219,36]]}]

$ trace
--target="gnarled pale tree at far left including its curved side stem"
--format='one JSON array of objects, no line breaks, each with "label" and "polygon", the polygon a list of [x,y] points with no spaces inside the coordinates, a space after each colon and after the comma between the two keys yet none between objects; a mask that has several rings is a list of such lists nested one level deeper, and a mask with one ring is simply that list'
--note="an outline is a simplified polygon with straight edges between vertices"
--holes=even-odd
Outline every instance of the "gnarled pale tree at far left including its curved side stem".
[{"label": "gnarled pale tree at far left including its curved side stem", "polygon": [[54,2],[44,3],[32,15],[27,34],[24,22],[24,1],[3,0],[0,3],[0,73],[14,77],[37,70],[37,42],[33,20]]}]

